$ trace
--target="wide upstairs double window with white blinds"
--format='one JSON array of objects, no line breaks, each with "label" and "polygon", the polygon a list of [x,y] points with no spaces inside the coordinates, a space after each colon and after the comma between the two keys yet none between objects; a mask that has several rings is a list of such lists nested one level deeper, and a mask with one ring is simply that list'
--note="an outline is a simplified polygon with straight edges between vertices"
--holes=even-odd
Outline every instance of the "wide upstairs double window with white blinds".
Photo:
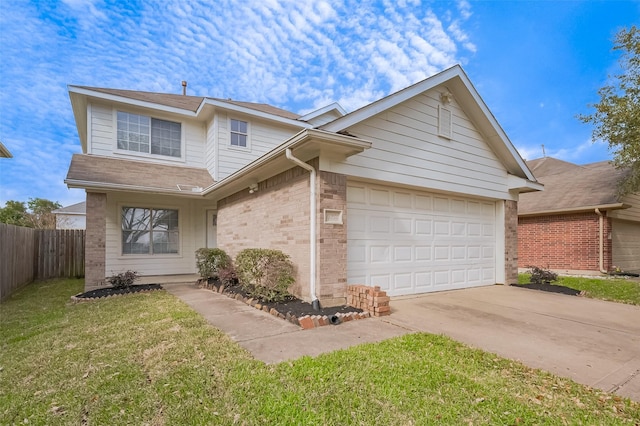
[{"label": "wide upstairs double window with white blinds", "polygon": [[180,158],[181,139],[180,123],[118,111],[118,149]]}]

